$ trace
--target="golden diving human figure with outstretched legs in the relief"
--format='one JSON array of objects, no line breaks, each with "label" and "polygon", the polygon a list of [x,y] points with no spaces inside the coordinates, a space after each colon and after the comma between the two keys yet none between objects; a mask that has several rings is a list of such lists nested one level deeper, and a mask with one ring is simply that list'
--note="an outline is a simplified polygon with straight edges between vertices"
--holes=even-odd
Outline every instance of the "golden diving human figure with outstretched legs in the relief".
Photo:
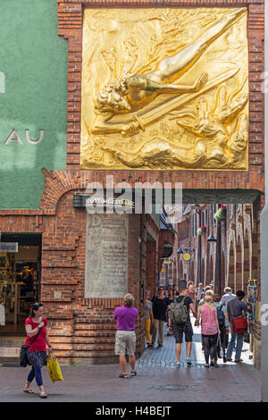
[{"label": "golden diving human figure with outstretched legs in the relief", "polygon": [[[234,9],[224,13],[220,21],[212,23],[192,44],[180,49],[179,53],[163,59],[158,68],[148,74],[129,74],[118,82],[111,82],[99,91],[95,100],[96,120],[93,134],[121,132],[130,134],[141,127],[137,115],[130,115],[130,121],[114,122],[118,114],[136,113],[149,105],[161,94],[180,95],[197,92],[205,86],[207,73],[201,74],[188,86],[173,84],[190,69],[211,43],[243,14],[245,9]],[[161,115],[161,113],[160,113]],[[136,118],[135,118],[136,117]]]}]

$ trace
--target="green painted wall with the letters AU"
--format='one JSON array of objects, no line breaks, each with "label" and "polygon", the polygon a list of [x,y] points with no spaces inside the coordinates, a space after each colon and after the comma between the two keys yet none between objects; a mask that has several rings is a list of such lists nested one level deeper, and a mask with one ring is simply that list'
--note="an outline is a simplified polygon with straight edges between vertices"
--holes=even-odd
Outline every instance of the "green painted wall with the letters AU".
[{"label": "green painted wall with the letters AU", "polygon": [[[47,170],[66,167],[68,43],[56,0],[0,1],[0,208],[38,208]],[[5,93],[3,93],[5,92]],[[12,130],[21,141],[4,144]],[[38,139],[29,144],[25,137]]]}]

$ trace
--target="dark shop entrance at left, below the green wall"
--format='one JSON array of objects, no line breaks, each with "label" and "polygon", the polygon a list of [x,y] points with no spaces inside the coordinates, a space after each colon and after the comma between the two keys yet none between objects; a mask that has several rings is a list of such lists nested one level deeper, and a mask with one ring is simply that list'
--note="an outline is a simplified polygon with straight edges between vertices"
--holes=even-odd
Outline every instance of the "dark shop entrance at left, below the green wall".
[{"label": "dark shop entrance at left, below the green wall", "polygon": [[24,322],[29,315],[30,307],[34,302],[38,302],[41,243],[40,234],[2,233],[0,336],[21,335],[24,332]]}]

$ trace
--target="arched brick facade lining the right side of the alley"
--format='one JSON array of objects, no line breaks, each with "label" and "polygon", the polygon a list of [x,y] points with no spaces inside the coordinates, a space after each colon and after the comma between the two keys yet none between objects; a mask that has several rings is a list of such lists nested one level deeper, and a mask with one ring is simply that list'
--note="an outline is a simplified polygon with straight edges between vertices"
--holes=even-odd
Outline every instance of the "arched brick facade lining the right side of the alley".
[{"label": "arched brick facade lining the right side of the alley", "polygon": [[[260,209],[263,206],[260,200],[254,204],[227,205],[226,219],[221,222],[221,249],[218,243],[208,243],[211,232],[218,238],[218,222],[213,219],[213,205],[201,205],[200,211],[207,212],[207,229],[201,237],[201,277],[199,277],[199,244],[198,235],[193,235],[192,219],[196,212],[193,207],[184,215],[184,220],[178,224],[178,242],[174,246],[173,282],[185,278],[193,281],[197,286],[202,281],[206,286],[214,281],[214,290],[218,293],[219,272],[218,252],[221,252],[221,294],[224,287],[230,286],[233,292],[244,290],[247,295],[248,280],[257,280],[257,302],[255,321],[252,331],[252,349],[254,351],[255,365],[260,367],[260,306],[261,306],[261,276],[260,276]],[[199,211],[199,210],[198,210]],[[198,221],[198,217],[197,217]],[[180,224],[182,229],[180,229]],[[198,222],[197,222],[198,227]],[[181,231],[181,234],[180,234]],[[186,231],[188,235],[186,237]],[[195,248],[192,260],[183,261],[182,255],[176,255],[176,246],[182,248]],[[179,266],[179,273],[177,267]]]}]

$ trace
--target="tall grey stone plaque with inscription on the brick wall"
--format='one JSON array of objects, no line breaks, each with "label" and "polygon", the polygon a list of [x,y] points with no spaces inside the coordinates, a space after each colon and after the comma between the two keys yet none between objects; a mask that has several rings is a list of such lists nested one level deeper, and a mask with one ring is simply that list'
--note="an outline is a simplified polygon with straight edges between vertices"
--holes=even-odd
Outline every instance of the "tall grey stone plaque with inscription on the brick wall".
[{"label": "tall grey stone plaque with inscription on the brick wall", "polygon": [[87,214],[85,298],[128,292],[128,214]]}]

